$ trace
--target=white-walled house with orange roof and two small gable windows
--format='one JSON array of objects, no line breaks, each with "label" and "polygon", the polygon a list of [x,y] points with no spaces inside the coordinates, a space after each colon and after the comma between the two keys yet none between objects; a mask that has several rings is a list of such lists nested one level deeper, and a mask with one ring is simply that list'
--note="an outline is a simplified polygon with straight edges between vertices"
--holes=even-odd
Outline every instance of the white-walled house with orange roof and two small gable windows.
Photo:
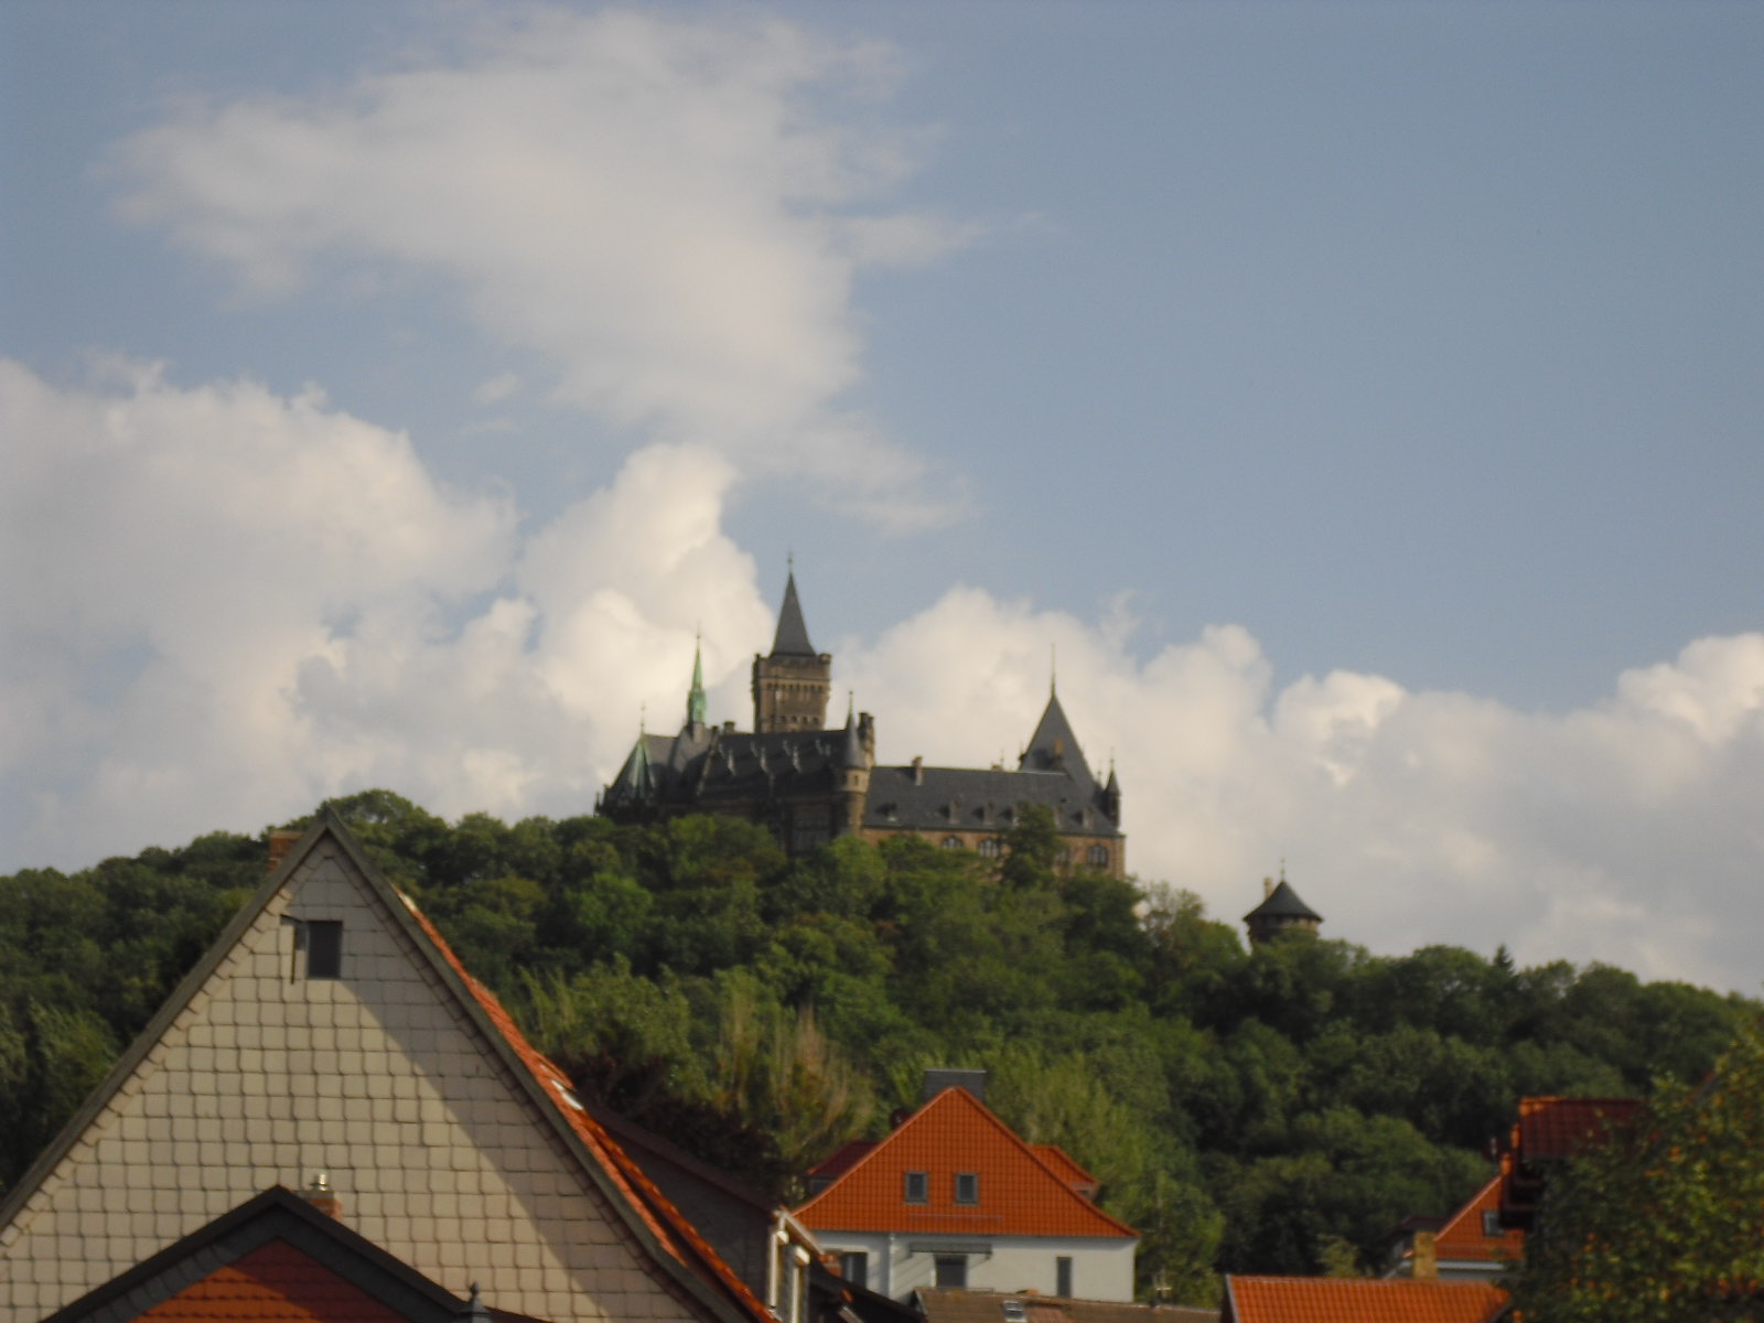
[{"label": "white-walled house with orange roof and two small gable windows", "polygon": [[975,1095],[981,1073],[930,1073],[930,1101],[884,1140],[810,1173],[796,1215],[841,1272],[907,1300],[926,1288],[1132,1300],[1138,1233],[1097,1208],[1095,1180],[1028,1145]]}]

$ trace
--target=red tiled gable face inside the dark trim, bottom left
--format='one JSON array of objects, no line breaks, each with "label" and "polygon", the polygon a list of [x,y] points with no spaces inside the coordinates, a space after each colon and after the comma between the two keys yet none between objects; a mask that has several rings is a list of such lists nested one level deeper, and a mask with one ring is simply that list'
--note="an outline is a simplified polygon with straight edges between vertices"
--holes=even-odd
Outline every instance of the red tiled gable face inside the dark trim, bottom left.
[{"label": "red tiled gable face inside the dark trim, bottom left", "polygon": [[270,1240],[136,1323],[404,1323],[404,1316],[286,1240]]}]

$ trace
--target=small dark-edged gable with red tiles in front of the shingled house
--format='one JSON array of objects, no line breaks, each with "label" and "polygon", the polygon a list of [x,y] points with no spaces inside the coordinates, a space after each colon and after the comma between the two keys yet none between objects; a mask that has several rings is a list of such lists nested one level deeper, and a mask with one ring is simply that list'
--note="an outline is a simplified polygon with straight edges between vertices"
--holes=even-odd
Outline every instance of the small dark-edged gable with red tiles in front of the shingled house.
[{"label": "small dark-edged gable with red tiles in front of the shingled house", "polygon": [[469,1300],[275,1185],[46,1323],[450,1323],[469,1311]]}]

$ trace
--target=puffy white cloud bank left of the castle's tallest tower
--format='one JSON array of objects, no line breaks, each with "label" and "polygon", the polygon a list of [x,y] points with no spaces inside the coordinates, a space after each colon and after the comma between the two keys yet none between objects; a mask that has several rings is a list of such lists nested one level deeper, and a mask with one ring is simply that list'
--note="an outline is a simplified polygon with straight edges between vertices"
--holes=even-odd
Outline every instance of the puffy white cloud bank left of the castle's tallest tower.
[{"label": "puffy white cloud bank left of the castle's tallest tower", "polygon": [[637,452],[520,540],[409,441],[250,381],[0,362],[7,866],[92,863],[393,787],[443,813],[579,813],[704,630],[767,630],[721,534],[725,462]]}]

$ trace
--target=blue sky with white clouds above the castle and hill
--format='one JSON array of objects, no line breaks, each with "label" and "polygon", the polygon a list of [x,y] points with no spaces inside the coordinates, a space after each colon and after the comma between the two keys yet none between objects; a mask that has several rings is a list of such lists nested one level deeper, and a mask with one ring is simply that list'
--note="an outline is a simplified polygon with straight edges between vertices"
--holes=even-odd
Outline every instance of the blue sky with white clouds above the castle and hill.
[{"label": "blue sky with white clouds above the castle and hill", "polygon": [[1764,968],[1764,9],[0,4],[0,870],[1057,667],[1129,868]]}]

